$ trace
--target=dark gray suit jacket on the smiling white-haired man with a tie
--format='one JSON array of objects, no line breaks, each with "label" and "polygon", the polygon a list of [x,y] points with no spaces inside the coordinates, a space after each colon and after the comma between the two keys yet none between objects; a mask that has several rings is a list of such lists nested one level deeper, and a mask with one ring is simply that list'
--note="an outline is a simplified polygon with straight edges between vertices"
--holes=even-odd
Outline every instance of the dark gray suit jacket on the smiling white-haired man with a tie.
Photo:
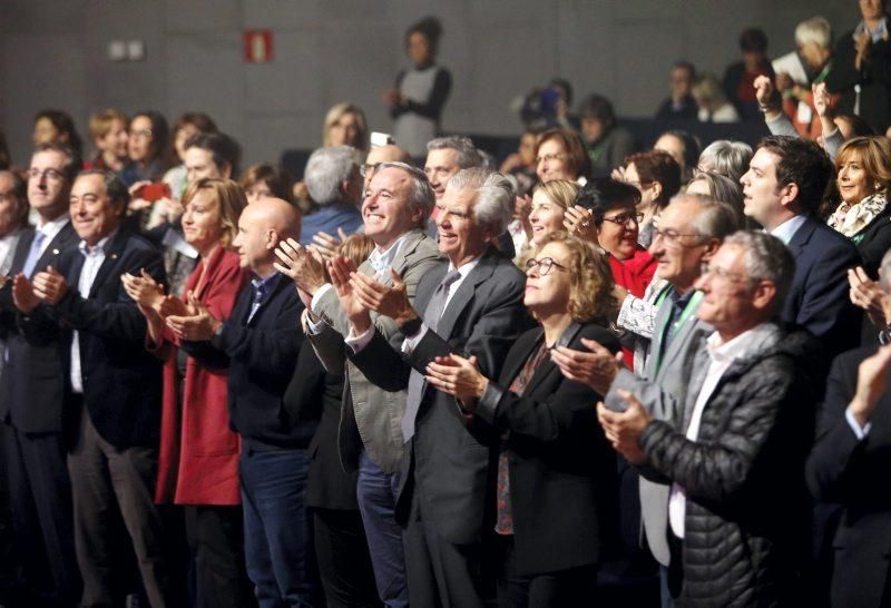
[{"label": "dark gray suit jacket on the smiling white-haired man with a tie", "polygon": [[[418,285],[415,308],[423,311],[446,276],[448,264]],[[424,373],[428,363],[449,353],[476,355],[480,370],[497,377],[510,346],[532,324],[522,305],[525,275],[493,247],[460,284],[440,318],[437,333],[428,331],[405,359],[375,332],[371,343],[351,360],[374,384],[405,389],[412,370]],[[480,539],[490,488],[491,432],[467,424],[454,398],[427,386],[407,444],[396,499],[396,519],[405,523],[414,484],[421,486],[424,512],[435,513],[439,533],[449,542]]]}]

